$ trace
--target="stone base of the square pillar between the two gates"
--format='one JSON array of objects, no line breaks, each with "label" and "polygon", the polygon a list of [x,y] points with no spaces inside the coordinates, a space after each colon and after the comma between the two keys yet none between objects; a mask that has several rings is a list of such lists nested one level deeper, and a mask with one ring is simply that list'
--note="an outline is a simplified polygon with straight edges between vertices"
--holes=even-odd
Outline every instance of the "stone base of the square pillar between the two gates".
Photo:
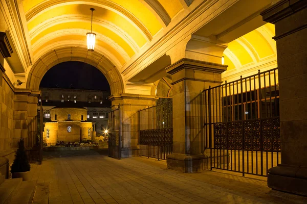
[{"label": "stone base of the square pillar between the two gates", "polygon": [[210,155],[184,155],[173,153],[167,156],[167,168],[184,172],[194,173],[210,169]]}]

